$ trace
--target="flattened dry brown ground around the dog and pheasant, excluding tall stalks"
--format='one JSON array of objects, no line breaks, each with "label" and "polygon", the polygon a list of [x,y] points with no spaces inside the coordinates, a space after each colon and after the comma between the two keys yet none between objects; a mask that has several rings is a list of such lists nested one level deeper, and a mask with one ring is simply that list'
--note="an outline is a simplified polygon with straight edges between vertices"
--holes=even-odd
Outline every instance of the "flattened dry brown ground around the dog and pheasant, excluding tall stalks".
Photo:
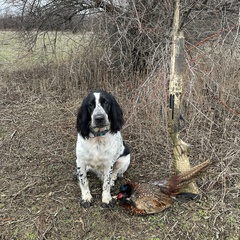
[{"label": "flattened dry brown ground around the dog and pheasant, excluding tall stalks", "polygon": [[[214,155],[209,157],[216,162],[198,180],[200,200],[176,202],[149,216],[130,215],[118,205],[102,209],[101,183],[90,176],[95,202],[81,208],[80,189],[72,179],[81,96],[63,100],[57,92],[37,95],[22,92],[17,83],[1,84],[0,239],[239,239],[239,135],[231,135],[230,142],[227,137],[211,140],[215,150],[208,151]],[[123,130],[132,149],[126,178],[147,181],[172,173],[168,150],[156,156],[157,141],[144,149],[131,134]],[[193,156],[199,155],[200,143],[194,146]]]}]

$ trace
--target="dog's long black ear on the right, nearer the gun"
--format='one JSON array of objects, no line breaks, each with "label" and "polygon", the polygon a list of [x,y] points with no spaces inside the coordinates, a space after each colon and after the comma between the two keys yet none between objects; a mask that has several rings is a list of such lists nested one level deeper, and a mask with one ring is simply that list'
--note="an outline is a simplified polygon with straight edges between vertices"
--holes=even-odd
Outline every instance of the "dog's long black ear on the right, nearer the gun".
[{"label": "dog's long black ear on the right, nearer the gun", "polygon": [[111,122],[112,133],[116,133],[117,131],[122,129],[122,126],[124,124],[123,112],[113,96],[111,101],[111,108],[109,111],[109,120]]}]

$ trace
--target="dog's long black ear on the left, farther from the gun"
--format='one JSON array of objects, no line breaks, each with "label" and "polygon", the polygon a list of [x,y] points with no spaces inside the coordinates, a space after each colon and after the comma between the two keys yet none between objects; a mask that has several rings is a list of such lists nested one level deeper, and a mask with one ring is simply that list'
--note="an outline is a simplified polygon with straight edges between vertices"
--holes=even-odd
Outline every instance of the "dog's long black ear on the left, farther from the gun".
[{"label": "dog's long black ear on the left, farther from the gun", "polygon": [[88,138],[90,133],[89,124],[91,121],[91,115],[88,112],[87,100],[83,100],[82,105],[77,115],[77,131],[83,138]]}]

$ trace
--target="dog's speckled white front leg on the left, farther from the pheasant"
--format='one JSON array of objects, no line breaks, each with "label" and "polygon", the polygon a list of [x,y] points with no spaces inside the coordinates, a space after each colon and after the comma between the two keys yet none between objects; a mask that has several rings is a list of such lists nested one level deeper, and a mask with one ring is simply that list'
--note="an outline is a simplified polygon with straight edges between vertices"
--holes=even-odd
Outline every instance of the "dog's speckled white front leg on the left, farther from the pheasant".
[{"label": "dog's speckled white front leg on the left, farther from the pheasant", "polygon": [[82,193],[81,206],[90,207],[92,203],[92,195],[90,193],[88,179],[87,179],[87,171],[86,166],[79,164],[77,166],[77,176],[79,179],[79,186]]}]

